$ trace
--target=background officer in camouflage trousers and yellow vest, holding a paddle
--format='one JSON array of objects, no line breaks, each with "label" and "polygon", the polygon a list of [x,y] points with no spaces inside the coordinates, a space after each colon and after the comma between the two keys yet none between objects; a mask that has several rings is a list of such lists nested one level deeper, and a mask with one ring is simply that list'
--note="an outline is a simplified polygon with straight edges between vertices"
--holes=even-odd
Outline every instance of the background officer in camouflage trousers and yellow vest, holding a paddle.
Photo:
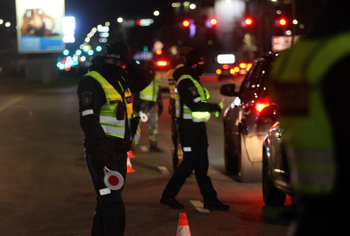
[{"label": "background officer in camouflage trousers and yellow vest, holding a paddle", "polygon": [[[163,102],[160,91],[160,78],[155,75],[153,61],[145,61],[145,68],[151,73],[152,82],[140,93],[134,94],[134,109],[136,114],[147,117],[150,152],[163,152],[157,145],[158,116],[163,111]],[[158,111],[156,110],[158,105]]]}]

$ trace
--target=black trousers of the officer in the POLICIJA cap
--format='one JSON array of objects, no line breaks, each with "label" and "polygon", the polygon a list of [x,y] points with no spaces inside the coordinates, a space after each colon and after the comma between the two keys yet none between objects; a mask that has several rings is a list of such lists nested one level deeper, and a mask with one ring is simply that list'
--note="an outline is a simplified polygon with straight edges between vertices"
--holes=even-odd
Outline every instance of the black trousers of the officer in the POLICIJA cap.
[{"label": "black trousers of the officer in the POLICIJA cap", "polygon": [[[110,169],[118,171],[126,178],[127,153],[120,152],[120,149],[110,142],[106,141],[107,160],[104,165]],[[118,150],[119,149],[119,150]],[[100,195],[100,190],[107,188],[103,182],[104,166],[101,161],[96,160],[95,155],[85,153],[87,168],[89,169],[91,179],[97,194],[97,203],[91,235],[124,235],[125,231],[125,207],[121,197],[122,189],[111,190],[110,194]]]}]

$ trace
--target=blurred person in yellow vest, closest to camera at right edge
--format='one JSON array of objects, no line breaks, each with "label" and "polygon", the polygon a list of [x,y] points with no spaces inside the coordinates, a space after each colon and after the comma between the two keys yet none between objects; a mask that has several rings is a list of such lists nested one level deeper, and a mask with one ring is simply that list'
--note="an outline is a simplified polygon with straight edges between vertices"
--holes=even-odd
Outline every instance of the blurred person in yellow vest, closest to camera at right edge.
[{"label": "blurred person in yellow vest, closest to camera at right edge", "polygon": [[281,53],[272,71],[272,97],[279,106],[296,198],[297,215],[288,235],[342,235],[348,230],[348,218],[339,211],[349,209],[345,68],[350,65],[350,28],[338,22],[350,22],[350,17],[336,2],[325,5],[311,34]]}]

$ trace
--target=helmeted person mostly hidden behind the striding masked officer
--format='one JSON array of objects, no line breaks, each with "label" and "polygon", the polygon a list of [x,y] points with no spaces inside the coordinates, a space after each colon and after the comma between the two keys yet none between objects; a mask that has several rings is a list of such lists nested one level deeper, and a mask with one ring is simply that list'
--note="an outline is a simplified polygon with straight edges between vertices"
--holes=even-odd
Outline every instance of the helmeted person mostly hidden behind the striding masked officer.
[{"label": "helmeted person mostly hidden behind the striding masked officer", "polygon": [[[185,66],[186,63],[186,54],[191,51],[192,47],[180,47],[178,51],[178,58],[176,61],[173,62],[174,67],[171,68],[168,73],[168,88],[170,92],[170,100],[169,100],[169,106],[168,106],[168,112],[171,116],[171,154],[172,154],[172,168],[175,171],[178,168],[179,165],[179,136],[178,136],[178,128],[176,124],[176,108],[175,108],[175,100],[176,100],[176,94],[175,94],[175,88],[176,88],[176,80],[173,78],[173,74],[176,70],[182,68]],[[175,74],[179,74],[179,71]],[[181,70],[180,70],[181,74]],[[181,75],[180,75],[181,76]],[[177,79],[180,77],[178,76]]]}]

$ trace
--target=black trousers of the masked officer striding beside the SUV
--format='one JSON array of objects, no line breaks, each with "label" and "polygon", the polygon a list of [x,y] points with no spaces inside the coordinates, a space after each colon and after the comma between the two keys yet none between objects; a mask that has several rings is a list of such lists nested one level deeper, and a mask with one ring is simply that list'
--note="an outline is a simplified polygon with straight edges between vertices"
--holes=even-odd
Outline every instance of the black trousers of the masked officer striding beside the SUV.
[{"label": "black trousers of the masked officer striding beside the SUV", "polygon": [[217,201],[216,191],[207,175],[208,138],[205,130],[181,130],[180,141],[184,151],[184,159],[174,172],[163,191],[162,197],[172,198],[178,195],[186,178],[195,170],[196,180],[203,195],[204,202]]}]

